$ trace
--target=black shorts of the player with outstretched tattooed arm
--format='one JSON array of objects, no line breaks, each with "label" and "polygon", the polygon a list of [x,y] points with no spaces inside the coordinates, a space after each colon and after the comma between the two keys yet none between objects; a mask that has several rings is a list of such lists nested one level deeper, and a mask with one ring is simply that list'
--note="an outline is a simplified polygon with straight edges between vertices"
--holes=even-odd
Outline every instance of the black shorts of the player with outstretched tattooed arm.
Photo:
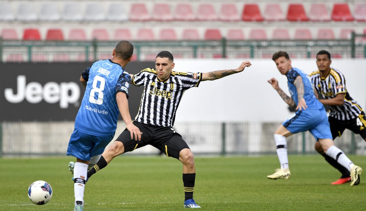
[{"label": "black shorts of the player with outstretched tattooed arm", "polygon": [[125,153],[146,145],[152,145],[163,151],[167,156],[179,160],[179,152],[182,149],[190,149],[182,136],[176,133],[173,127],[155,126],[136,121],[133,124],[142,132],[141,141],[131,139],[131,133],[127,128],[116,139],[116,141],[123,143]]}]

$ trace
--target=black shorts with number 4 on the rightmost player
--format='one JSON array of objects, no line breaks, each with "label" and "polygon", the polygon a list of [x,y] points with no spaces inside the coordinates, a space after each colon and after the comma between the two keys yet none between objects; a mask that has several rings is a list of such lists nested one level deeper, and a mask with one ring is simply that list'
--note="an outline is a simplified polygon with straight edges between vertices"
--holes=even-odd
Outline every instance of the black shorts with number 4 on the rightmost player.
[{"label": "black shorts with number 4 on the rightmost player", "polygon": [[332,132],[333,140],[343,134],[345,129],[353,131],[355,134],[360,134],[363,139],[366,138],[366,116],[362,111],[357,118],[350,120],[338,120],[332,117],[328,118],[330,131]]}]

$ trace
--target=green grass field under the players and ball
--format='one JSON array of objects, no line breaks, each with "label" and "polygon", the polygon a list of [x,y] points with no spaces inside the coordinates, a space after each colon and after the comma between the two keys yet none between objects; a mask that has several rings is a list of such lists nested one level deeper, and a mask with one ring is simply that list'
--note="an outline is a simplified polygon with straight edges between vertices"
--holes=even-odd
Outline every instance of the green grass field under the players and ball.
[{"label": "green grass field under the players and ball", "polygon": [[[365,156],[350,156],[366,170]],[[366,183],[330,185],[340,173],[318,155],[289,156],[291,179],[269,180],[277,156],[196,157],[194,199],[201,210],[365,210]],[[0,159],[0,210],[73,210],[73,157]],[[366,173],[364,173],[366,176]],[[48,204],[32,204],[29,185],[51,184]],[[85,210],[187,210],[182,164],[168,157],[119,156],[90,178]]]}]

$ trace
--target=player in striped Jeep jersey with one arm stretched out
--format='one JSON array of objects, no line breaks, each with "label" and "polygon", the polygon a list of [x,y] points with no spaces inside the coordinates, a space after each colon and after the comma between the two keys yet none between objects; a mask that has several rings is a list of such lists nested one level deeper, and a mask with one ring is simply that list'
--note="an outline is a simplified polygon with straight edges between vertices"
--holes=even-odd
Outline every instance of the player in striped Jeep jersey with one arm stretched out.
[{"label": "player in striped Jeep jersey with one arm stretched out", "polygon": [[183,164],[184,207],[200,208],[194,199],[193,191],[196,170],[193,153],[182,136],[172,127],[176,110],[184,91],[191,87],[198,87],[201,81],[216,80],[234,73],[239,73],[250,62],[243,62],[238,68],[231,70],[217,70],[208,73],[174,72],[172,69],[173,55],[168,51],[161,51],[156,56],[156,69],[144,69],[140,73],[131,75],[135,86],[145,87],[138,114],[133,122],[141,131],[141,141],[132,139],[128,131],[123,131],[116,141],[106,149],[100,160],[92,168],[88,178],[98,170],[107,166],[111,160],[125,152],[152,145],[163,151],[167,156],[178,159]]}]

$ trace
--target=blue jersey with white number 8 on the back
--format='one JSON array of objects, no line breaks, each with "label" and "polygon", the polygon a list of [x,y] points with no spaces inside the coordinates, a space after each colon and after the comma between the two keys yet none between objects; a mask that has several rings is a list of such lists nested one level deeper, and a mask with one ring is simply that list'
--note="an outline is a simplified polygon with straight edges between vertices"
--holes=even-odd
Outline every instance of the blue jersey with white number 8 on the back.
[{"label": "blue jersey with white number 8 on the back", "polygon": [[128,97],[130,74],[111,60],[99,60],[87,68],[82,77],[87,85],[75,128],[90,135],[114,134],[119,115],[116,94],[124,92]]}]

